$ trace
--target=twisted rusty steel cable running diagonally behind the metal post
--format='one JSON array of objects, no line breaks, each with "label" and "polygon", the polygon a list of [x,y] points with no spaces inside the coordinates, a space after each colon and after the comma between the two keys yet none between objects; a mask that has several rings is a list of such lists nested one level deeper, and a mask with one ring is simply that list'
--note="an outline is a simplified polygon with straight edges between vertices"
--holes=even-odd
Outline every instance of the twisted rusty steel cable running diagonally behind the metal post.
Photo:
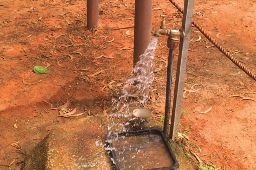
[{"label": "twisted rusty steel cable running diagonally behind the metal post", "polygon": [[[169,0],[182,14],[184,13],[183,9],[178,6],[174,0]],[[227,56],[228,59],[230,59],[234,64],[236,64],[241,70],[243,70],[248,76],[250,76],[253,80],[256,81],[256,76],[253,72],[251,72],[249,69],[247,69],[241,62],[239,62],[236,58],[231,56],[217,41],[215,41],[208,33],[203,30],[203,28],[197,24],[194,20],[192,20],[192,24],[209,40],[211,43],[213,43],[214,46],[216,46],[219,51],[221,51],[225,56]]]}]

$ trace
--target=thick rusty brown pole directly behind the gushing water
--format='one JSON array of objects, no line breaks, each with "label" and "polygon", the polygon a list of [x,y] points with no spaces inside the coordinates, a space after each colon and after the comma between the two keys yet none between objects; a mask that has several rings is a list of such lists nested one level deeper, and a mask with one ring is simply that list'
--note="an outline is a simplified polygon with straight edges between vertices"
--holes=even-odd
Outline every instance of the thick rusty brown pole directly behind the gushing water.
[{"label": "thick rusty brown pole directly behind the gushing water", "polygon": [[135,0],[133,66],[151,40],[152,0]]}]

